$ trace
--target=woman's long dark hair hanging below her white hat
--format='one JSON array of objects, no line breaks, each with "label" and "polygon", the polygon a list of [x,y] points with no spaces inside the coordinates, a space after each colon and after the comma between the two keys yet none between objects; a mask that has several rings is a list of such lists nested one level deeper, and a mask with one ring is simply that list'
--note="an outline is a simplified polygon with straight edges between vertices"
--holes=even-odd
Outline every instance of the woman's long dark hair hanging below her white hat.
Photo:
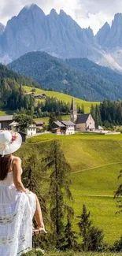
[{"label": "woman's long dark hair hanging below her white hat", "polygon": [[5,180],[10,169],[11,155],[0,155],[0,180]]}]

